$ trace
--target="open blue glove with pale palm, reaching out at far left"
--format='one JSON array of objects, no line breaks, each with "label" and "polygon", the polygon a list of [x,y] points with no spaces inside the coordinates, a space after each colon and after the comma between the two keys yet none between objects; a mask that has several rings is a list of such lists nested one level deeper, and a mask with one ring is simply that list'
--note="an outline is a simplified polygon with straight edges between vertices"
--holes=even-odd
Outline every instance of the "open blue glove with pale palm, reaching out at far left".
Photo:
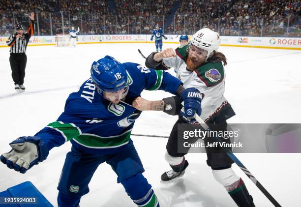
[{"label": "open blue glove with pale palm, reaching out at far left", "polygon": [[9,145],[12,149],[2,154],[0,160],[8,168],[20,173],[26,173],[33,165],[45,160],[49,153],[47,146],[39,137],[20,137]]}]

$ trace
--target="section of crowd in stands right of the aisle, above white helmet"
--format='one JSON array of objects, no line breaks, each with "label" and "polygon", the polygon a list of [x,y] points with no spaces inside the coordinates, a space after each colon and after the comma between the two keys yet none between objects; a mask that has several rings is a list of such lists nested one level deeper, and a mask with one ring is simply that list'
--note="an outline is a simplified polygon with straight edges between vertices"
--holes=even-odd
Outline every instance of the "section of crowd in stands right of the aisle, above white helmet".
[{"label": "section of crowd in stands right of the aisle, above white helmet", "polygon": [[188,33],[194,31],[191,22],[202,20],[198,26],[219,28],[221,35],[260,36],[263,32],[283,36],[288,21],[300,32],[300,7],[300,0],[182,0],[176,13],[176,30],[185,16]]}]

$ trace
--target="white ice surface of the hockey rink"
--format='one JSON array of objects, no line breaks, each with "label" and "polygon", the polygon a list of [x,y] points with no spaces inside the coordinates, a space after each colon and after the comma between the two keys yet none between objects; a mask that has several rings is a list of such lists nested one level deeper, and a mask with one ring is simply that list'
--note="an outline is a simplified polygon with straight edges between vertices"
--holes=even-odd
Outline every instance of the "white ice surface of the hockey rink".
[{"label": "white ice surface of the hockey rink", "polygon": [[[175,44],[164,44],[177,47]],[[9,48],[0,49],[0,153],[10,150],[9,142],[33,135],[56,120],[68,94],[89,77],[93,60],[111,55],[120,62],[144,64],[138,54],[154,50],[154,44],[94,44],[77,48],[54,46],[28,47],[26,92],[14,94],[9,65]],[[225,96],[236,116],[231,123],[301,123],[301,52],[294,50],[221,47],[228,58]],[[174,73],[173,70],[170,70]],[[156,100],[169,96],[161,91],[146,91],[143,96]],[[162,112],[144,112],[133,133],[168,136],[177,117]],[[234,207],[226,190],[218,184],[206,164],[206,154],[186,156],[190,165],[184,177],[161,183],[160,175],[170,167],[164,160],[167,139],[132,137],[162,207]],[[0,191],[30,180],[57,206],[57,185],[70,143],[54,148],[47,160],[26,174],[0,163]],[[242,153],[242,163],[257,177],[283,207],[300,207],[301,154]],[[233,165],[242,177],[257,207],[271,207],[269,200]],[[76,172],[74,172],[76,173]],[[90,182],[90,193],[81,207],[134,207],[117,176],[107,164],[99,166]]]}]

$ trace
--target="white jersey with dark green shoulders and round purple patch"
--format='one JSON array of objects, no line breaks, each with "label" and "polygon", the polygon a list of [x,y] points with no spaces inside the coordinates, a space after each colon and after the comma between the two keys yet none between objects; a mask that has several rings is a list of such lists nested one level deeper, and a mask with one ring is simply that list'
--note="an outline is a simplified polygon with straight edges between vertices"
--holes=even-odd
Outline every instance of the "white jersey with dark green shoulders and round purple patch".
[{"label": "white jersey with dark green shoulders and round purple patch", "polygon": [[[178,49],[181,50],[181,48]],[[175,68],[177,78],[181,80],[185,89],[196,88],[204,94],[201,118],[206,122],[229,105],[224,97],[224,68],[221,62],[215,62],[206,63],[194,71],[189,71],[186,69],[187,65],[180,52],[176,50],[175,58],[166,58],[163,59],[163,62],[167,66]]]}]

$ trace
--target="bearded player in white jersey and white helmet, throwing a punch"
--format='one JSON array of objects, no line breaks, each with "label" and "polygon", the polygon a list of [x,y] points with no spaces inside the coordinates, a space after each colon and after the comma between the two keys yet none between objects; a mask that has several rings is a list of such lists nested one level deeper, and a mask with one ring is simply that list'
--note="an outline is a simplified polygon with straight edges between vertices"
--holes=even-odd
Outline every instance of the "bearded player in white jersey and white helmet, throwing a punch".
[{"label": "bearded player in white jersey and white helmet, throwing a punch", "polygon": [[[201,92],[201,94],[195,93],[194,96],[198,97],[198,104],[201,105],[202,102],[202,110],[190,110],[190,116],[197,113],[207,124],[210,124],[213,131],[227,131],[226,120],[233,117],[235,113],[224,97],[225,71],[223,65],[227,64],[227,59],[224,54],[217,52],[219,46],[219,34],[204,28],[192,36],[188,45],[178,47],[176,51],[167,48],[160,53],[151,53],[146,59],[146,66],[162,69],[163,62],[169,67],[174,67],[177,71],[177,77],[183,82],[186,89],[195,87]],[[151,104],[151,101],[141,97],[138,100],[140,104],[137,109],[149,108],[147,106]],[[161,105],[167,105],[167,102],[169,107],[163,109],[164,112],[170,115],[179,115],[179,119],[171,131],[166,146],[165,159],[172,170],[162,174],[162,181],[183,176],[188,166],[188,161],[184,157],[187,153],[178,151],[178,130],[180,130],[178,127],[182,127],[178,124],[188,123],[185,126],[189,131],[196,128],[196,120],[187,118],[186,109],[177,113],[178,109],[181,108],[181,100],[177,97],[170,97],[166,98]],[[155,108],[155,106],[152,107]],[[180,141],[184,142],[183,139]],[[205,137],[205,146],[212,141],[214,141],[212,138]],[[223,138],[222,141],[230,143],[230,139]],[[253,198],[249,195],[243,180],[232,170],[233,160],[221,148],[206,148],[206,152],[207,165],[211,167],[213,177],[225,187],[234,202],[239,207],[255,207]]]}]

